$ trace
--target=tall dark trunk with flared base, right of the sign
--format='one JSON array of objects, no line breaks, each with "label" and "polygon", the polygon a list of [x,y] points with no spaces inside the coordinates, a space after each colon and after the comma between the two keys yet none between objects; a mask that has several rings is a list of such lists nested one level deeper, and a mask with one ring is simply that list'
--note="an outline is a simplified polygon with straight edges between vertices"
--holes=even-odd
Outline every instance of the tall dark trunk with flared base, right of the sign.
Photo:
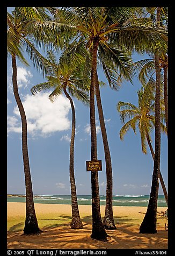
[{"label": "tall dark trunk with flared base, right of the sign", "polygon": [[[161,9],[157,8],[157,22],[159,22]],[[147,212],[140,226],[140,233],[157,233],[157,199],[158,199],[158,176],[161,156],[161,72],[159,68],[159,55],[155,53],[156,68],[156,95],[155,95],[155,158],[152,174],[151,193]]]}]

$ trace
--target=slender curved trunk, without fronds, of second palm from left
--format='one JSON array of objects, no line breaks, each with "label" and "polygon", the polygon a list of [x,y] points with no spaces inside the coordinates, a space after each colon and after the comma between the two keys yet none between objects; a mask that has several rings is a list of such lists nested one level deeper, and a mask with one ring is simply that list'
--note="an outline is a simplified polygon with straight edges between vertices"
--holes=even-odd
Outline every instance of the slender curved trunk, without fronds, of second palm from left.
[{"label": "slender curved trunk, without fronds, of second palm from left", "polygon": [[67,93],[66,86],[63,87],[63,90],[64,90],[65,96],[70,101],[71,110],[72,110],[72,132],[71,132],[71,140],[70,140],[70,161],[69,161],[71,208],[72,208],[72,221],[70,226],[71,226],[71,229],[83,229],[83,224],[79,216],[77,192],[76,192],[76,184],[75,184],[75,176],[74,176],[74,141],[75,141],[75,127],[76,127],[75,108],[70,95]]}]

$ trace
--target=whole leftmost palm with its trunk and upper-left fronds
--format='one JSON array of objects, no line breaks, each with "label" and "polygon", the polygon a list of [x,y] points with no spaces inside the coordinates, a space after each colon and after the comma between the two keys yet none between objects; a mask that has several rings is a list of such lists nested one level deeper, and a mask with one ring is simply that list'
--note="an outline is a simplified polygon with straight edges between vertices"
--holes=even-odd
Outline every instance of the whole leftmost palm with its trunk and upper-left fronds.
[{"label": "whole leftmost palm with its trunk and upper-left fronds", "polygon": [[[24,226],[24,234],[40,233],[41,230],[39,229],[34,209],[32,180],[27,146],[27,120],[23,103],[21,102],[18,92],[16,57],[18,57],[21,62],[27,65],[27,62],[22,53],[23,45],[25,45],[27,52],[31,54],[31,59],[33,59],[33,62],[36,65],[40,66],[40,63],[43,60],[43,58],[41,54],[37,51],[35,46],[32,44],[30,39],[27,37],[27,25],[32,24],[32,22],[35,22],[36,20],[39,22],[43,18],[49,19],[45,12],[45,8],[16,7],[14,8],[12,15],[10,15],[10,13],[7,13],[7,48],[8,53],[11,55],[12,60],[13,93],[18,105],[22,124],[22,148],[26,189],[26,219]],[[23,28],[24,24],[25,29]],[[35,58],[33,58],[33,56]],[[45,66],[43,66],[42,70],[45,70]]]}]

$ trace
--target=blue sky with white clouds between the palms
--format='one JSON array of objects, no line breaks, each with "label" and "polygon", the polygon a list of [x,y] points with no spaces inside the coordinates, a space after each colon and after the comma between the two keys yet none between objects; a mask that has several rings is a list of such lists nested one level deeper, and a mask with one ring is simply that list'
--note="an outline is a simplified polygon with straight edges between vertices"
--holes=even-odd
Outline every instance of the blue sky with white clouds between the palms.
[{"label": "blue sky with white clouds between the palms", "polygon": [[[10,10],[10,9],[9,9]],[[28,60],[26,53],[24,56]],[[134,56],[134,60],[144,56]],[[71,108],[69,100],[60,95],[54,103],[48,99],[49,91],[31,94],[31,88],[46,81],[32,66],[17,60],[17,81],[19,94],[24,104],[28,126],[28,154],[32,177],[33,194],[70,195],[69,146],[71,136]],[[99,80],[106,83],[100,89],[104,118],[110,146],[113,195],[149,195],[154,162],[148,147],[148,154],[141,150],[138,130],[127,132],[120,140],[122,127],[116,110],[119,101],[137,105],[137,90],[141,84],[137,78],[133,85],[122,84],[119,91],[108,86],[107,80],[98,70]],[[7,60],[7,193],[25,194],[23,155],[21,150],[21,120],[12,89],[11,59]],[[75,180],[78,195],[91,195],[91,173],[86,172],[86,161],[91,160],[90,110],[88,106],[73,98],[76,111],[75,136]],[[96,108],[98,160],[103,170],[98,172],[100,195],[106,195],[106,169],[103,141],[101,137],[98,111]],[[161,134],[161,172],[167,188],[167,137]],[[154,146],[154,133],[152,134]],[[159,185],[159,194],[163,194]]]}]

